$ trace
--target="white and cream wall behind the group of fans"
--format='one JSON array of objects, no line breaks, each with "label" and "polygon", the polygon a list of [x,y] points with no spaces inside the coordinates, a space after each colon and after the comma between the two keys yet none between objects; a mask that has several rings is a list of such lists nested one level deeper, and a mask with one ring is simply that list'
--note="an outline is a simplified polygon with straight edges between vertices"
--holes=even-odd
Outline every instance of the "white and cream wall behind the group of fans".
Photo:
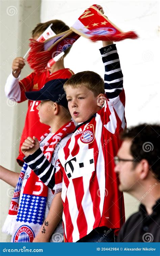
[{"label": "white and cream wall behind the group of fans", "polygon": [[[105,15],[119,28],[127,32],[138,33],[137,40],[117,42],[116,46],[121,60],[126,91],[126,119],[128,126],[140,122],[159,121],[159,1],[53,1],[53,0],[7,0],[1,1],[1,165],[10,170],[20,170],[16,164],[18,143],[12,146],[22,132],[26,114],[26,103],[8,106],[4,95],[4,84],[10,73],[11,63],[15,57],[23,56],[28,49],[30,31],[40,21],[61,19],[69,26],[92,4],[103,7]],[[14,16],[6,15],[8,6],[16,6],[18,12]],[[40,11],[41,9],[41,17]],[[21,52],[9,57],[15,49],[22,46]],[[91,70],[104,77],[104,66],[99,48],[101,42],[92,43],[81,37],[73,45],[66,56],[65,67],[74,73]],[[3,65],[9,57],[9,61]],[[22,78],[29,74],[25,66]],[[2,159],[2,154],[12,146]],[[8,212],[11,197],[8,196],[10,186],[1,182],[1,225]],[[137,211],[138,202],[125,194],[126,217]],[[1,235],[1,241],[9,241]]]}]

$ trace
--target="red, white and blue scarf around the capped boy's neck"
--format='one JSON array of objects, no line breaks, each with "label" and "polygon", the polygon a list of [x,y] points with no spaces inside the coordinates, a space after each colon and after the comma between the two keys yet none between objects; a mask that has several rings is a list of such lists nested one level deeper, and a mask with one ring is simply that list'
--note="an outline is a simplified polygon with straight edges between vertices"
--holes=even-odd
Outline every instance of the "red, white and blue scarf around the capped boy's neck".
[{"label": "red, white and blue scarf around the capped boy's neck", "polygon": [[[63,125],[45,143],[41,150],[49,162],[51,162],[56,145],[65,136],[73,133],[74,130],[75,124],[73,121],[70,121]],[[41,137],[41,141],[44,140],[50,132],[51,129]],[[28,165],[24,163],[10,203],[7,218],[2,227],[2,232],[12,235],[13,242],[32,242],[44,222],[48,187],[33,171],[31,171],[27,179],[19,205],[22,183],[27,167]],[[18,227],[16,230],[15,225]]]}]

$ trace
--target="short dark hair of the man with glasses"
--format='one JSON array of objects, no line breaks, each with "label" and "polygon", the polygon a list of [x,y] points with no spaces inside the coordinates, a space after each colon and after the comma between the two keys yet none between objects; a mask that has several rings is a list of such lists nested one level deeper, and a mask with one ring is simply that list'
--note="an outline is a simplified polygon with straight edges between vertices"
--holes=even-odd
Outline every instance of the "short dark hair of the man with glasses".
[{"label": "short dark hair of the man with glasses", "polygon": [[131,155],[139,161],[146,159],[152,173],[160,180],[160,125],[144,123],[132,126],[121,134],[121,139],[131,139]]}]

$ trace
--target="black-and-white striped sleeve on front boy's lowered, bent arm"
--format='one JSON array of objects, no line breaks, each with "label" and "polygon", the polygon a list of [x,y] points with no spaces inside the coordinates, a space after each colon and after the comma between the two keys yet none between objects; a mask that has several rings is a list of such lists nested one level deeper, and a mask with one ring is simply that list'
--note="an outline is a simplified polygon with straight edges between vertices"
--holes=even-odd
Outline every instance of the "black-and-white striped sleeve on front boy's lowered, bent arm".
[{"label": "black-and-white striped sleeve on front boy's lowered, bent arm", "polygon": [[50,189],[54,188],[56,168],[48,161],[40,147],[32,155],[23,159],[46,186]]}]

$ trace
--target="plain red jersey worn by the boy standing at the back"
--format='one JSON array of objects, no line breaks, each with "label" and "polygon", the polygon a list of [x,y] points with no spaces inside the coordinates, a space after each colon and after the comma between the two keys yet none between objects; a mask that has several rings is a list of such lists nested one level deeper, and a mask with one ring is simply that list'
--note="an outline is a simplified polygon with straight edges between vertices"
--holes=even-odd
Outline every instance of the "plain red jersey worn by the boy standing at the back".
[{"label": "plain red jersey worn by the boy standing at the back", "polygon": [[[50,80],[57,79],[57,78],[70,78],[74,73],[68,69],[64,68],[61,70],[58,70],[57,72],[50,75],[49,71],[45,71],[40,74],[36,74],[35,72],[32,72],[29,76],[25,77],[21,81],[19,81],[19,85],[21,88],[21,100],[19,102],[23,102],[27,100],[25,96],[25,92],[27,91],[38,91],[40,90],[45,83],[47,83]],[[23,153],[21,152],[21,146],[24,140],[28,136],[36,136],[38,139],[42,134],[45,133],[49,129],[49,126],[46,124],[42,124],[39,122],[39,116],[38,116],[38,110],[36,109],[37,105],[40,103],[40,101],[31,101],[28,100],[28,110],[26,114],[26,120],[24,129],[21,135],[21,141],[20,141],[20,147],[19,147],[19,156],[17,157],[17,162],[20,165],[23,165]]]}]

